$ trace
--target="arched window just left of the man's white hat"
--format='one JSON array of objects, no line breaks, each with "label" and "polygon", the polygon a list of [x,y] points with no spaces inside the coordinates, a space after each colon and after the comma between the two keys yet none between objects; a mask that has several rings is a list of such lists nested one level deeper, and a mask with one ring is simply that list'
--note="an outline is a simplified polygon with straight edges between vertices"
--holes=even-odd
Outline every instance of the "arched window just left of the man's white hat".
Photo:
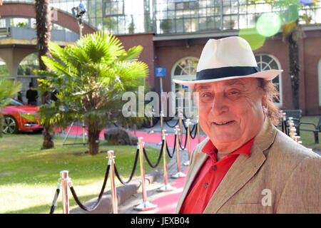
[{"label": "arched window just left of the man's white hat", "polygon": [[[182,92],[185,93],[186,91],[191,91],[190,88],[187,86],[178,85],[177,83],[173,82],[173,79],[178,80],[188,80],[192,81],[196,79],[196,69],[198,66],[198,58],[195,57],[185,57],[181,58],[177,61],[171,71],[171,79],[172,79],[172,92],[178,93]],[[172,102],[172,105],[175,105],[175,111],[178,107],[177,97],[175,98],[175,102]],[[184,107],[190,107],[190,111],[193,112],[193,100],[190,100],[190,103],[183,103]],[[184,110],[185,112],[186,110]]]}]

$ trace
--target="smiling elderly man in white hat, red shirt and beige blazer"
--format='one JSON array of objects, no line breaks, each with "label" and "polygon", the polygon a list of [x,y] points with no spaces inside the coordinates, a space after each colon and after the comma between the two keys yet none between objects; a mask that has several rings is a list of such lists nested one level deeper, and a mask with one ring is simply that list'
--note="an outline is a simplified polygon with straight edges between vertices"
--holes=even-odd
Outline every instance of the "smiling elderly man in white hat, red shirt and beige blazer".
[{"label": "smiling elderly man in white hat, red shirt and beige blazer", "polygon": [[190,156],[178,213],[320,213],[321,157],[275,128],[272,78],[243,38],[210,39],[196,81],[208,138]]}]

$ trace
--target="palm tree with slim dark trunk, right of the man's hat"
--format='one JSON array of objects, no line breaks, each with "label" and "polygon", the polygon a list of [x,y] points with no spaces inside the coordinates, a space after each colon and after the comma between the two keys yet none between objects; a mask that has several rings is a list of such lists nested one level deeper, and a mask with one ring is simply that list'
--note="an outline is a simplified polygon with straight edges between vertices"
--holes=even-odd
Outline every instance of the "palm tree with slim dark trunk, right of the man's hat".
[{"label": "palm tree with slim dark trunk, right of the man's hat", "polygon": [[[250,0],[252,4],[263,2],[261,0]],[[289,50],[290,63],[290,81],[292,91],[292,105],[294,109],[300,109],[300,39],[303,36],[300,20],[305,24],[310,24],[311,18],[306,14],[299,15],[302,4],[297,0],[265,0],[267,4],[271,4],[277,9],[282,19],[283,41],[287,43]],[[310,4],[314,6],[315,3]]]}]

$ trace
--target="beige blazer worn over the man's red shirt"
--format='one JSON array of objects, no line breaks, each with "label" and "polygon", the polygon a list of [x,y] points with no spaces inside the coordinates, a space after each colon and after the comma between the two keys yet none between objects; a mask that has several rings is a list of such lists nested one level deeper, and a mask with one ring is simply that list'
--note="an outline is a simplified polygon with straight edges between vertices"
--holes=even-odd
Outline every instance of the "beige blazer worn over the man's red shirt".
[{"label": "beige blazer worn over the man's red shirt", "polygon": [[[206,157],[200,142],[176,212]],[[203,213],[321,213],[321,157],[277,130],[266,118],[250,157],[239,155]]]}]

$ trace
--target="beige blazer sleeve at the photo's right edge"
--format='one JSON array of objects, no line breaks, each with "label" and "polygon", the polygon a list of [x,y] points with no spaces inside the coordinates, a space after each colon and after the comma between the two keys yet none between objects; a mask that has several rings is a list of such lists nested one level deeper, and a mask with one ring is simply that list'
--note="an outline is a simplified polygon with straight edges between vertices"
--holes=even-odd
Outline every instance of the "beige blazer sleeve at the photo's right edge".
[{"label": "beige blazer sleeve at the photo's right edge", "polygon": [[321,213],[321,157],[306,157],[293,170],[280,195],[276,213]]}]

